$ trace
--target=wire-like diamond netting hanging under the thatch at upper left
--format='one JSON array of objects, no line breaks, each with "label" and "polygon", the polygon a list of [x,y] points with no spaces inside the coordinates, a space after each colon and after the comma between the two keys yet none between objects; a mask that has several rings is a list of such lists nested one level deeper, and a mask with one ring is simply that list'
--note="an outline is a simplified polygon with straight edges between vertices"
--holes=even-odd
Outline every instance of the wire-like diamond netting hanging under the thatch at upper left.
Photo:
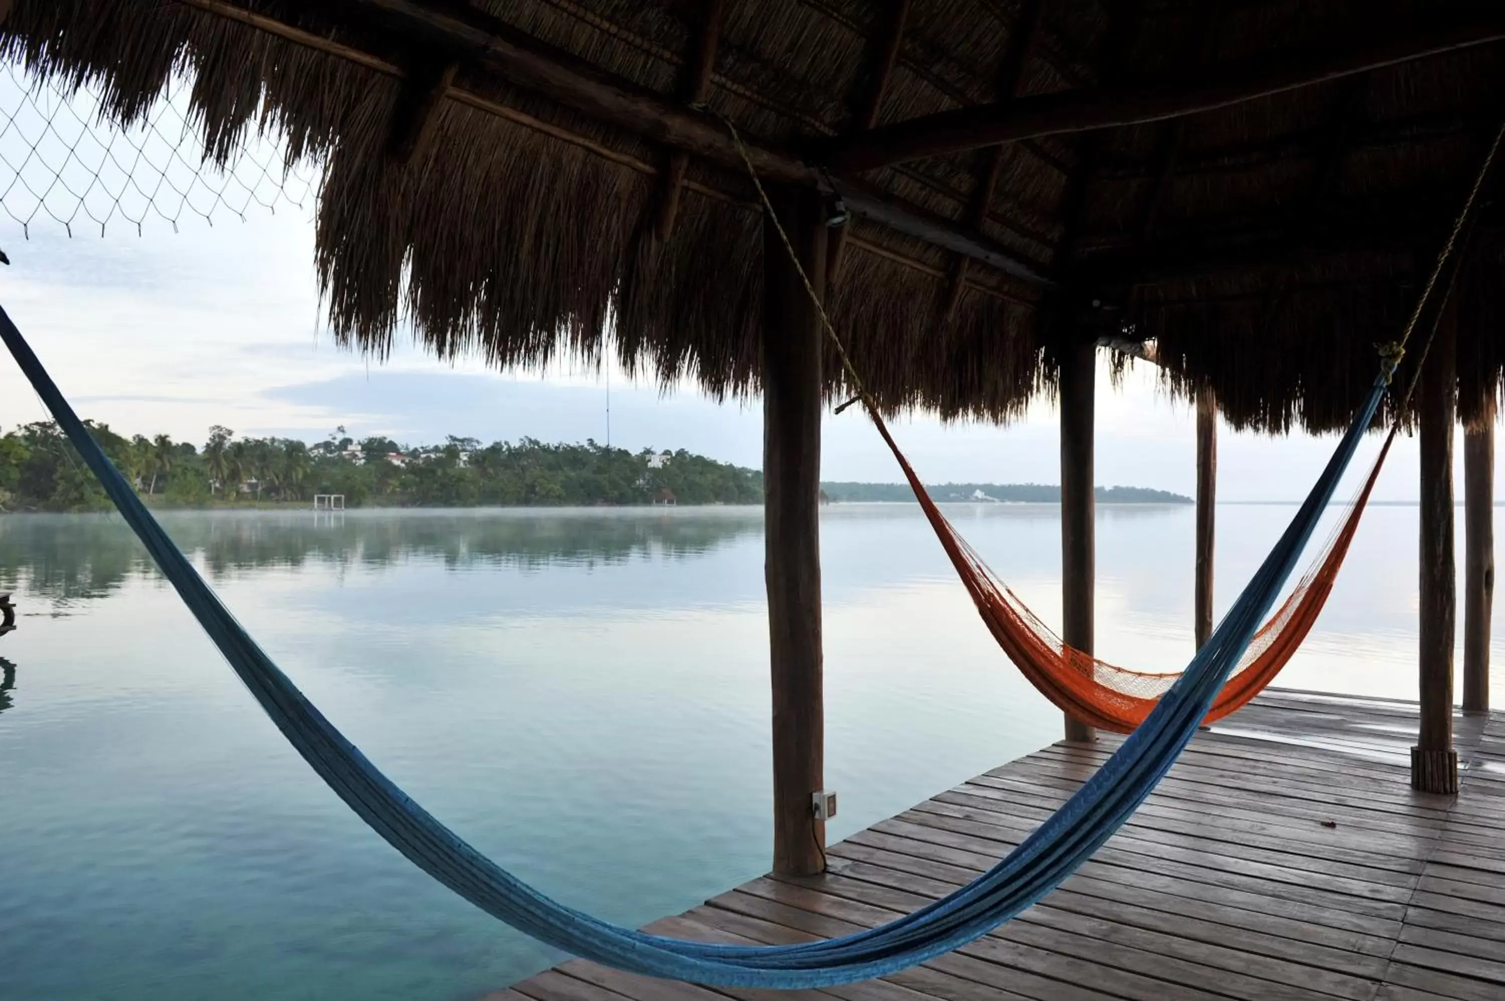
[{"label": "wire-like diamond netting hanging under the thatch at upper left", "polygon": [[68,90],[24,69],[0,69],[0,224],[24,236],[56,224],[69,236],[110,227],[134,233],[152,224],[245,218],[257,206],[303,206],[316,196],[316,172],[284,170],[281,152],[254,135],[221,169],[203,160],[190,120],[187,84],[175,83],[140,123],[120,128],[101,116],[92,86]]}]

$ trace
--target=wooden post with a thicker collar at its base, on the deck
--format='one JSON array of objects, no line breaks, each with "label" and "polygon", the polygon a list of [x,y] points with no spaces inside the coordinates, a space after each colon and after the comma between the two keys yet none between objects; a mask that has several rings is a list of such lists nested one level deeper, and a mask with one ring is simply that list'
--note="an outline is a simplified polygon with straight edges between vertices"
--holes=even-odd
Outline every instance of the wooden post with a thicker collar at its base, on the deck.
[{"label": "wooden post with a thicker collar at its base, on the deck", "polygon": [[1412,748],[1412,787],[1458,792],[1452,750],[1452,426],[1457,415],[1457,307],[1448,306],[1421,376],[1421,733]]}]

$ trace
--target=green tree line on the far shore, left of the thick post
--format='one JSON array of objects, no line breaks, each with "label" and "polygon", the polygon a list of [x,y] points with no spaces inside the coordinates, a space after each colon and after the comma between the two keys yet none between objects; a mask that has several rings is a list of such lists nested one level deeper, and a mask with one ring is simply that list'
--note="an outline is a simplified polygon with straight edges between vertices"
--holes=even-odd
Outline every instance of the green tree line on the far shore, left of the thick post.
[{"label": "green tree line on the far shore, left of the thick post", "polygon": [[[343,494],[360,506],[578,506],[752,504],[763,476],[685,450],[638,453],[533,438],[482,446],[402,447],[391,438],[360,441],[340,427],[309,444],[296,438],[238,438],[211,427],[203,446],[169,435],[126,438],[89,421],[95,441],[149,503],[175,507],[307,503]],[[104,491],[51,421],[0,437],[0,510],[105,510]]]}]

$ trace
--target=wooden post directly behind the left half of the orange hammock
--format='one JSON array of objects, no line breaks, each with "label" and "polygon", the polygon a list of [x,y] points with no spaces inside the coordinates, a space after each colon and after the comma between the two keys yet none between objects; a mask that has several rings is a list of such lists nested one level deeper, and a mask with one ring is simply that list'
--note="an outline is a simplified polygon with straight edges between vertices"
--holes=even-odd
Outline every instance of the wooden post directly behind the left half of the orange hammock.
[{"label": "wooden post directly behind the left half of the orange hammock", "polygon": [[[1093,652],[1094,519],[1093,411],[1097,343],[1069,345],[1061,357],[1061,638]],[[1093,727],[1066,718],[1067,741],[1094,741]]]}]

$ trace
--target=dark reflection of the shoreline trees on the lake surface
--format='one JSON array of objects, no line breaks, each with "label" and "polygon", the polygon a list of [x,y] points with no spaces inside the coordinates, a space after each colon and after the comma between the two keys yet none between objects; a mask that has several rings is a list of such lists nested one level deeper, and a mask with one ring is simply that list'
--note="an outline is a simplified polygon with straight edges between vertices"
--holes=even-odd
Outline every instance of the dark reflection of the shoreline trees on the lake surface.
[{"label": "dark reflection of the shoreline trees on the lake surface", "polygon": [[[447,569],[620,564],[685,560],[762,531],[760,509],[679,512],[170,512],[178,546],[220,580],[241,570],[306,564],[384,567],[414,558]],[[131,530],[110,515],[0,518],[0,587],[66,605],[105,598],[155,574]]]}]

